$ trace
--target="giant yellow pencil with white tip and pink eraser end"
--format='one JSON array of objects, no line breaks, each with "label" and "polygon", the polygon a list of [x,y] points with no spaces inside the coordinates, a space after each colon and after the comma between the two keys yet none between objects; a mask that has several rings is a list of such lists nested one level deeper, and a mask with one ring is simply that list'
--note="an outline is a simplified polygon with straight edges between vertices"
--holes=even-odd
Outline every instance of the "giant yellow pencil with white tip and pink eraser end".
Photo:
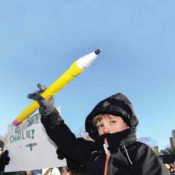
[{"label": "giant yellow pencil with white tip and pink eraser end", "polygon": [[[69,69],[64,72],[50,87],[48,87],[41,96],[46,100],[50,100],[57,92],[63,89],[70,81],[79,75],[86,67],[88,67],[98,56],[100,49],[91,52],[84,57],[76,60]],[[25,119],[27,119],[31,114],[33,114],[38,108],[39,104],[34,101],[22,113],[13,121],[15,126],[20,125]]]}]

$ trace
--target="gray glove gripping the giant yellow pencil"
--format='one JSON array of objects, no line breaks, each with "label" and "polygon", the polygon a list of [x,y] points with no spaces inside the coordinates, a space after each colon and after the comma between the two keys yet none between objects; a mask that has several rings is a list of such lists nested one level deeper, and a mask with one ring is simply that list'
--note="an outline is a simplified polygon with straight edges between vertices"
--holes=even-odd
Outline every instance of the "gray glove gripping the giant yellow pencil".
[{"label": "gray glove gripping the giant yellow pencil", "polygon": [[40,94],[44,92],[47,89],[47,87],[42,84],[37,84],[37,86],[40,90],[29,94],[27,97],[29,99],[36,100],[39,103],[39,112],[41,115],[50,115],[55,109],[54,99],[51,98],[49,101],[45,100]]}]

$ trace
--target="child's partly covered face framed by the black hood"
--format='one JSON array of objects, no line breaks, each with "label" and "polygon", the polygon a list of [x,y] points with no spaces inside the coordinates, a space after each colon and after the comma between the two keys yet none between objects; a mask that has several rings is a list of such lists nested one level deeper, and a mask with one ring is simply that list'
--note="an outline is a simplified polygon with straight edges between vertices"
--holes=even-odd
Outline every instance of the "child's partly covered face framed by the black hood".
[{"label": "child's partly covered face framed by the black hood", "polygon": [[96,127],[99,135],[112,134],[129,128],[121,117],[111,114],[105,114],[100,121],[97,121]]}]

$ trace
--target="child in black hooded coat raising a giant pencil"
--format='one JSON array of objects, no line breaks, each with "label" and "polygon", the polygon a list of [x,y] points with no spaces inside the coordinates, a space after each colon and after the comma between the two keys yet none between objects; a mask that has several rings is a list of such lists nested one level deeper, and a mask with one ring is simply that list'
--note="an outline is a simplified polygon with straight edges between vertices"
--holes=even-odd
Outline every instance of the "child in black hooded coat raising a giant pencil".
[{"label": "child in black hooded coat raising a giant pencil", "polygon": [[76,138],[52,102],[36,92],[28,97],[40,104],[41,121],[59,150],[85,165],[88,175],[169,174],[152,149],[136,141],[138,120],[125,95],[117,93],[104,99],[87,116],[85,128],[94,141]]}]

